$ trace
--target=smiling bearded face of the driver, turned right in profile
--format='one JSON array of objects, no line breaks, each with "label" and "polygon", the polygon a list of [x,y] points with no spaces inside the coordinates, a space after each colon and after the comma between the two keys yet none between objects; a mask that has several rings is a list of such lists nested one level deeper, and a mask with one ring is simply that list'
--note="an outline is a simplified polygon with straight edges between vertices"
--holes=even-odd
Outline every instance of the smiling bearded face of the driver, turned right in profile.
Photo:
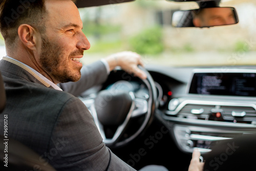
[{"label": "smiling bearded face of the driver, turned right in profile", "polygon": [[46,1],[46,33],[41,35],[41,68],[54,83],[78,81],[83,51],[90,43],[82,32],[82,21],[72,1]]}]

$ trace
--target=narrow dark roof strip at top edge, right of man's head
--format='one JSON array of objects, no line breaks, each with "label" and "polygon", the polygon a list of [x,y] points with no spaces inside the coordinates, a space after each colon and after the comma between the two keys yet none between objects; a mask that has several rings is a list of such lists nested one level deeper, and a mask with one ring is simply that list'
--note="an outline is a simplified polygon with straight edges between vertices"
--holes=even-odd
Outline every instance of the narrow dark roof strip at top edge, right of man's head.
[{"label": "narrow dark roof strip at top edge, right of man's head", "polygon": [[127,3],[132,2],[135,0],[77,0],[76,6],[77,8],[84,8],[84,7],[94,7],[94,6],[101,6],[101,5],[109,5],[109,4],[119,4],[119,3]]}]

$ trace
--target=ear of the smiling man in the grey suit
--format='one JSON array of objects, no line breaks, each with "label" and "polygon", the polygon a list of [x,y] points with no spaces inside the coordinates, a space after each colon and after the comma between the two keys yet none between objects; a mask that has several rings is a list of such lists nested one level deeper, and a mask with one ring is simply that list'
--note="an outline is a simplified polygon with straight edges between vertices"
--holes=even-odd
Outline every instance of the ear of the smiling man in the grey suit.
[{"label": "ear of the smiling man in the grey suit", "polygon": [[36,41],[38,34],[36,30],[27,24],[22,24],[18,27],[18,36],[20,41],[28,47],[29,49],[34,49],[36,47]]}]

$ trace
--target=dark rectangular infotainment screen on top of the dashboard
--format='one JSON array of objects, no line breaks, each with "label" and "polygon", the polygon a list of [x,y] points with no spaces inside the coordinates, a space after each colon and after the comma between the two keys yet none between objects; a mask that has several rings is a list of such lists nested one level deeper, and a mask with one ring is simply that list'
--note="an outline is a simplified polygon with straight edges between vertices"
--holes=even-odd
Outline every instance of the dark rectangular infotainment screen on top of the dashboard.
[{"label": "dark rectangular infotainment screen on top of the dashboard", "polygon": [[194,73],[188,93],[256,97],[256,73]]}]

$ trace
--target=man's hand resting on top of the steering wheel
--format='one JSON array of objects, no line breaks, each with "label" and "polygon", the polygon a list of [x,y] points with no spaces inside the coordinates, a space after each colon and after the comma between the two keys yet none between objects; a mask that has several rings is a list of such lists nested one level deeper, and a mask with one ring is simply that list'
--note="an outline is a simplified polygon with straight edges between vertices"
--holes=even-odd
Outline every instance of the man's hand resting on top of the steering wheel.
[{"label": "man's hand resting on top of the steering wheel", "polygon": [[146,74],[138,68],[138,65],[144,67],[141,56],[135,52],[124,51],[112,54],[105,58],[109,63],[110,71],[120,66],[125,72],[146,79]]}]

